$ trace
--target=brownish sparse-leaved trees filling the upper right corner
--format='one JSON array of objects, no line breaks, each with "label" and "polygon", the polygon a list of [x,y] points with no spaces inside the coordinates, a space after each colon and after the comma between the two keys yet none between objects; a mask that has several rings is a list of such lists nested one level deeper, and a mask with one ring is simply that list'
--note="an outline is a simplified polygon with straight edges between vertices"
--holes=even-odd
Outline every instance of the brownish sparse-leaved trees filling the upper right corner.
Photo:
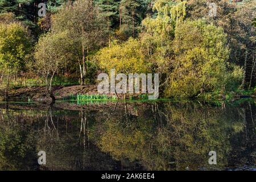
[{"label": "brownish sparse-leaved trees filling the upper right corner", "polygon": [[255,85],[255,27],[253,27],[256,2],[253,0],[212,1],[217,7],[217,16],[208,15],[209,7],[204,0],[188,1],[188,17],[204,18],[209,23],[222,27],[227,34],[230,48],[229,62],[243,66],[242,89]]}]

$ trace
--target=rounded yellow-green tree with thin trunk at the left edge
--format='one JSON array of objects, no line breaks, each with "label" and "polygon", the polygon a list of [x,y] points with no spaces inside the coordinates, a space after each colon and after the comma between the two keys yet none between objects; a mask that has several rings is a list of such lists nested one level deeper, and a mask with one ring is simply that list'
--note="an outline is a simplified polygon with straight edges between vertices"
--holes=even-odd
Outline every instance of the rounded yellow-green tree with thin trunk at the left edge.
[{"label": "rounded yellow-green tree with thin trunk at the left edge", "polygon": [[8,101],[11,76],[22,70],[31,52],[31,39],[20,23],[0,24],[0,72],[6,77]]}]

